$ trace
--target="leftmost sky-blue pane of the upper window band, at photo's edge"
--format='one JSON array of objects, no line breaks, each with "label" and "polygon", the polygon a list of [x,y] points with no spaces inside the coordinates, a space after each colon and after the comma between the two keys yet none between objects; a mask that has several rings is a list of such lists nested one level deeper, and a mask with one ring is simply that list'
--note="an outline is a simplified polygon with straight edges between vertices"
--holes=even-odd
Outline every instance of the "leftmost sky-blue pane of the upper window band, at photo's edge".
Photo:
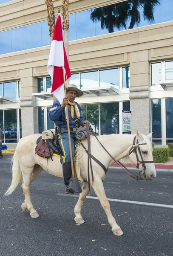
[{"label": "leftmost sky-blue pane of the upper window band, at photo's edge", "polygon": [[11,30],[0,32],[0,54],[11,52]]}]

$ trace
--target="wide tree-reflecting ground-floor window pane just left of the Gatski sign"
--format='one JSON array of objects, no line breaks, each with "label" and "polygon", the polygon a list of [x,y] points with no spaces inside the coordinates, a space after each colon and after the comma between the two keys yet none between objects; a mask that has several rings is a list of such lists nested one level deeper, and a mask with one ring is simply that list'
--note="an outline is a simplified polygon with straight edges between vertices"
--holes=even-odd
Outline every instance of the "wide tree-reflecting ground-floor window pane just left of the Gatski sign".
[{"label": "wide tree-reflecting ground-floor window pane just left of the Gatski sign", "polygon": [[100,135],[119,134],[119,102],[100,103]]}]

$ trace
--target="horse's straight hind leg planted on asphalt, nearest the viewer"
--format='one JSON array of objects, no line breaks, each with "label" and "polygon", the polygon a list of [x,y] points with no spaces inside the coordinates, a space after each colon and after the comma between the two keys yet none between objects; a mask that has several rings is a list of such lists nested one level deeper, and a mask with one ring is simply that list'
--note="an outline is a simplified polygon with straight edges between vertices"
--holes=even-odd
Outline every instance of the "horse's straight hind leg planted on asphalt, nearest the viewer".
[{"label": "horse's straight hind leg planted on asphalt, nearest the viewer", "polygon": [[[33,175],[33,167],[26,168],[23,166],[21,167],[22,175],[23,175],[23,183],[22,183],[22,188],[23,188],[23,194],[25,195],[25,203],[27,205],[28,210],[30,211],[30,215],[32,218],[38,218],[39,215],[37,211],[34,209],[32,203],[31,203],[31,196],[30,196],[30,184],[31,184],[31,178]],[[24,206],[26,206],[24,203]]]}]

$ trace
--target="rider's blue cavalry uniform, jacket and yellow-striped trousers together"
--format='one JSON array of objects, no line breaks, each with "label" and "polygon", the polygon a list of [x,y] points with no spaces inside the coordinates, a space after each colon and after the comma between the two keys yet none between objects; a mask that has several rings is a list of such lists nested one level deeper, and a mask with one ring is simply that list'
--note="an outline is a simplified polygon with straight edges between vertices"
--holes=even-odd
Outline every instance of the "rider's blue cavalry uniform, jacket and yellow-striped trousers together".
[{"label": "rider's blue cavalry uniform, jacket and yellow-striped trousers together", "polygon": [[[71,136],[71,149],[72,149],[72,155],[74,157],[74,150],[75,150],[75,135],[77,128],[82,125],[82,121],[84,119],[81,116],[81,107],[77,102],[74,102],[77,105],[77,108],[79,110],[79,119],[76,116],[75,109],[74,109],[74,118],[71,117],[71,108],[74,108],[74,106],[68,105],[68,117],[69,117],[69,125],[70,125],[70,136]],[[48,112],[48,115],[54,123],[60,127],[60,133],[58,134],[58,142],[61,146],[62,152],[65,156],[63,163],[70,163],[70,150],[69,150],[69,142],[68,142],[68,129],[67,129],[67,123],[65,122],[65,108],[62,109],[60,107],[60,102],[56,100],[54,104],[52,105],[50,111]],[[83,125],[82,125],[83,126]]]}]

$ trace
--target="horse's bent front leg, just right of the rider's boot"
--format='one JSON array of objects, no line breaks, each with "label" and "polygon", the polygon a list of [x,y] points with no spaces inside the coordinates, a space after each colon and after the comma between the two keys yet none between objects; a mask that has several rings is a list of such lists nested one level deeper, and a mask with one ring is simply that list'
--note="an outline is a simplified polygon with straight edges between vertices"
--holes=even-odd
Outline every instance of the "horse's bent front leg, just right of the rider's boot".
[{"label": "horse's bent front leg, just right of the rider's boot", "polygon": [[79,199],[77,201],[77,204],[74,207],[74,213],[76,215],[74,220],[76,221],[77,224],[83,224],[85,222],[83,220],[82,215],[80,214],[80,212],[81,212],[83,201],[85,200],[85,198],[86,198],[86,196],[88,194],[88,191],[89,191],[89,189],[88,189],[88,182],[84,182],[83,186],[82,186],[82,193],[80,193]]}]

